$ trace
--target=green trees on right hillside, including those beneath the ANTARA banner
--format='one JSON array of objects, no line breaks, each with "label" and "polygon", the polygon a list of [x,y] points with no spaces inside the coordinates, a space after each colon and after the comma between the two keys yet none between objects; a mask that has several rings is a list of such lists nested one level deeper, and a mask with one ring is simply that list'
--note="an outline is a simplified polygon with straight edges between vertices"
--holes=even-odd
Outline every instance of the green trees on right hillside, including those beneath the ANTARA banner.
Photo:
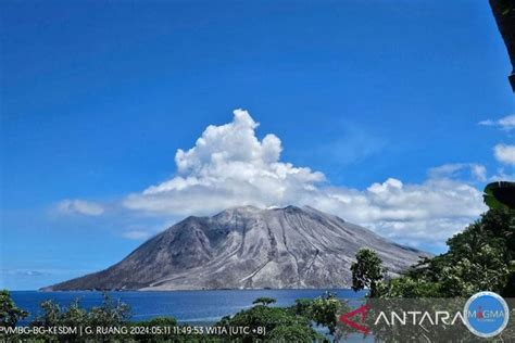
[{"label": "green trees on right hillside, including those beneath the ANTARA banner", "polygon": [[[447,253],[424,258],[399,278],[387,279],[378,272],[382,270],[381,262],[374,252],[362,250],[357,253],[357,261],[352,266],[353,289],[370,289],[366,325],[376,340],[402,342],[410,338],[413,342],[470,342],[477,336],[462,326],[440,323],[425,331],[417,325],[393,327],[375,325],[373,320],[382,310],[435,313],[447,309],[455,313],[463,309],[464,300],[480,291],[515,296],[515,209],[498,205],[497,201],[487,203],[493,205],[479,220],[448,240]],[[515,310],[512,309],[511,316],[515,316]],[[514,330],[508,323],[499,340],[512,342]]]}]

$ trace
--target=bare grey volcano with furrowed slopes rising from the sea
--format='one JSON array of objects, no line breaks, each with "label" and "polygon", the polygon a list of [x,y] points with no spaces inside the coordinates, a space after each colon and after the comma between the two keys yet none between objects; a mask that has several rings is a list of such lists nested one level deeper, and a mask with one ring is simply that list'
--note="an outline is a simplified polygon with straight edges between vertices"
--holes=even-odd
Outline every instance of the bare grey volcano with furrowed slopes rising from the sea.
[{"label": "bare grey volcano with furrowed slopes rising from the sea", "polygon": [[361,247],[392,274],[429,256],[312,207],[246,206],[188,217],[116,265],[43,290],[348,288]]}]

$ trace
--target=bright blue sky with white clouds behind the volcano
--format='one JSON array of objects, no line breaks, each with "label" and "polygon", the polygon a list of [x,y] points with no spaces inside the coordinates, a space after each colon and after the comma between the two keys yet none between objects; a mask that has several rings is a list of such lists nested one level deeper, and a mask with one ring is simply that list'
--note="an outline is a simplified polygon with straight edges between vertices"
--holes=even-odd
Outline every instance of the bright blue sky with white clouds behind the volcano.
[{"label": "bright blue sky with white clouds behind the volcano", "polygon": [[[514,175],[511,65],[487,1],[0,7],[0,287],[104,268],[188,212],[215,212],[198,205],[213,193],[208,178],[228,204],[241,201],[241,180],[221,181],[200,148],[188,157],[198,168],[177,168],[177,149],[196,147],[209,125],[209,156],[231,149],[223,140],[262,156],[281,150],[264,167],[228,154],[228,167],[292,165],[284,193],[256,178],[246,203],[311,199],[432,252],[481,212],[486,182]],[[248,113],[238,119],[236,109]],[[279,144],[264,144],[267,134]],[[300,167],[306,178],[291,176]],[[143,194],[167,180],[201,186]]]}]

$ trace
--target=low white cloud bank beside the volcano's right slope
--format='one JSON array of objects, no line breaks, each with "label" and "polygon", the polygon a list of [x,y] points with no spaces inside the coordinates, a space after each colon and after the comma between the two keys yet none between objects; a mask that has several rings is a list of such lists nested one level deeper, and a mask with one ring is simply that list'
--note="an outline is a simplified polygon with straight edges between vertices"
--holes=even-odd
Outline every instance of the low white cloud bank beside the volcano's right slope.
[{"label": "low white cloud bank beside the volcano's right slope", "polygon": [[451,179],[404,185],[390,178],[362,191],[322,189],[313,204],[412,245],[442,244],[486,209],[481,192]]}]

